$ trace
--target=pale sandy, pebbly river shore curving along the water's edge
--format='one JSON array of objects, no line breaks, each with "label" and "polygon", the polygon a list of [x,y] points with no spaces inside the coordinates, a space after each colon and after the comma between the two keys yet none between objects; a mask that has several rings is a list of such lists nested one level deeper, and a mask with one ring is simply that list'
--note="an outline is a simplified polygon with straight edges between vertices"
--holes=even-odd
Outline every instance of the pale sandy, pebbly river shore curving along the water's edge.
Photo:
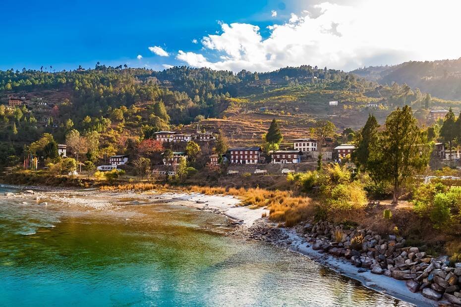
[{"label": "pale sandy, pebbly river shore curving along the water's edge", "polygon": [[[24,190],[30,187],[24,188]],[[12,197],[12,196],[8,196]],[[412,293],[408,290],[404,281],[396,280],[383,275],[371,274],[369,270],[357,270],[357,267],[349,261],[335,256],[314,251],[306,241],[293,228],[279,228],[277,224],[269,222],[267,218],[261,218],[268,214],[264,208],[251,209],[241,206],[240,201],[232,196],[203,195],[199,193],[183,192],[101,192],[95,189],[89,190],[35,190],[35,195],[21,194],[14,197],[33,199],[37,203],[53,202],[68,205],[79,205],[88,209],[96,210],[119,210],[120,205],[143,205],[165,204],[186,205],[199,210],[211,211],[223,214],[230,218],[230,223],[240,225],[233,235],[239,235],[246,239],[264,240],[282,248],[299,253],[314,261],[321,263],[333,270],[360,281],[365,287],[374,289],[386,295],[410,302],[417,306],[437,306],[437,302],[424,298],[420,293]],[[360,273],[359,273],[360,271]]]}]

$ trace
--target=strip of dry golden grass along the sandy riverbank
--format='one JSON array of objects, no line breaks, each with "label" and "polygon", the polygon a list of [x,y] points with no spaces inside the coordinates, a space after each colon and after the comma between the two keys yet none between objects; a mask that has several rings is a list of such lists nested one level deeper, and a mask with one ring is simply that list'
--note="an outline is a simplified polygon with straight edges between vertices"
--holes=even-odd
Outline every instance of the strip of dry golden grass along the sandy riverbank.
[{"label": "strip of dry golden grass along the sandy riverbank", "polygon": [[291,191],[271,191],[260,188],[224,188],[224,187],[172,187],[170,185],[156,185],[152,183],[133,183],[116,186],[103,186],[102,191],[150,191],[150,190],[180,190],[185,192],[197,192],[205,195],[231,195],[242,201],[251,208],[267,207],[269,219],[285,222],[290,227],[313,215],[311,199],[307,197],[293,196]]}]

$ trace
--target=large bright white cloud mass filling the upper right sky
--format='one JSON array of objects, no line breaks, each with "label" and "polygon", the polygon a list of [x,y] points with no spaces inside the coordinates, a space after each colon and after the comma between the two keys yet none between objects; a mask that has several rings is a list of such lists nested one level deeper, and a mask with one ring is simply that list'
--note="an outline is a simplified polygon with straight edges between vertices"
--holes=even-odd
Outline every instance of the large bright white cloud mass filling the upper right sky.
[{"label": "large bright white cloud mass filling the upper right sky", "polygon": [[[398,9],[397,9],[398,8]],[[190,66],[239,71],[270,71],[303,64],[350,70],[461,56],[457,14],[461,1],[360,1],[356,6],[324,2],[291,14],[267,28],[221,23],[218,35],[201,40],[200,53],[179,51]],[[211,58],[215,60],[211,60]]]}]

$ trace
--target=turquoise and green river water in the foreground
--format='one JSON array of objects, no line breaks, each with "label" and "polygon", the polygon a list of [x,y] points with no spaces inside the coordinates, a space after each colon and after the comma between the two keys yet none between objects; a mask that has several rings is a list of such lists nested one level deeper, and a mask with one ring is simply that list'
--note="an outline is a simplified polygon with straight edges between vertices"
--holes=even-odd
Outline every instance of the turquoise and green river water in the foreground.
[{"label": "turquoise and green river water in the foreground", "polygon": [[0,197],[0,306],[410,306],[177,205]]}]

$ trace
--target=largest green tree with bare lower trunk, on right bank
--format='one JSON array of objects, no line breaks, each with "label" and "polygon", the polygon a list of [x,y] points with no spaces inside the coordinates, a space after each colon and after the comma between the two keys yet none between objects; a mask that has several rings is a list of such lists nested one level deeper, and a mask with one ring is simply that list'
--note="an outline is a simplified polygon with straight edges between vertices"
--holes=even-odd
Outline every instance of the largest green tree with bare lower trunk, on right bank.
[{"label": "largest green tree with bare lower trunk, on right bank", "polygon": [[386,130],[378,133],[377,145],[370,148],[370,175],[392,184],[393,203],[397,204],[403,182],[427,166],[431,149],[411,107],[397,108],[387,117]]}]

